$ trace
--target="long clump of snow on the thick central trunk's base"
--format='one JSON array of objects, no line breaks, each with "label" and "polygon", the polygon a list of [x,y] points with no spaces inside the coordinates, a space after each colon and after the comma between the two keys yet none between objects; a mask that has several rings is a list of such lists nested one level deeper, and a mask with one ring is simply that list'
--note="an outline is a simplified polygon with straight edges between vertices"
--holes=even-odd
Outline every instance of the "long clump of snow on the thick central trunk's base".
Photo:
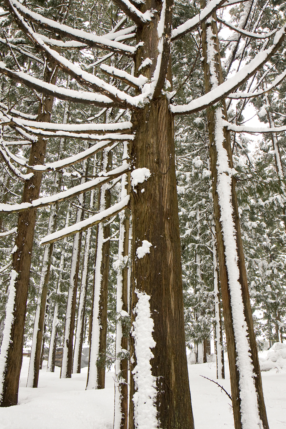
[{"label": "long clump of snow on the thick central trunk's base", "polygon": [[150,298],[145,292],[136,291],[138,302],[135,307],[132,336],[135,340],[137,365],[132,371],[136,392],[133,395],[135,428],[155,429],[158,427],[156,378],[152,375],[150,360],[154,358],[151,349],[156,346],[152,337],[154,321],[150,313]]}]

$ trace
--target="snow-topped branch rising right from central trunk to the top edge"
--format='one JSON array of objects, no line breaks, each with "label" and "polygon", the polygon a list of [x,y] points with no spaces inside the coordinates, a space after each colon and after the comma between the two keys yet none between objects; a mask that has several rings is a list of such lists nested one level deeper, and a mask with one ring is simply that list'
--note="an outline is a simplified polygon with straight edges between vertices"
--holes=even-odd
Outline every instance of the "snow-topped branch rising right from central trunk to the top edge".
[{"label": "snow-topped branch rising right from central trunk to the top edge", "polygon": [[[191,19],[188,19],[184,24],[179,25],[172,31],[172,41],[177,40],[185,34],[190,33],[194,30],[201,22],[208,19],[217,9],[225,3],[225,0],[212,0],[208,3],[208,5],[202,9],[198,15],[194,16]],[[228,3],[228,2],[227,2]],[[237,3],[237,2],[235,2]]]}]

